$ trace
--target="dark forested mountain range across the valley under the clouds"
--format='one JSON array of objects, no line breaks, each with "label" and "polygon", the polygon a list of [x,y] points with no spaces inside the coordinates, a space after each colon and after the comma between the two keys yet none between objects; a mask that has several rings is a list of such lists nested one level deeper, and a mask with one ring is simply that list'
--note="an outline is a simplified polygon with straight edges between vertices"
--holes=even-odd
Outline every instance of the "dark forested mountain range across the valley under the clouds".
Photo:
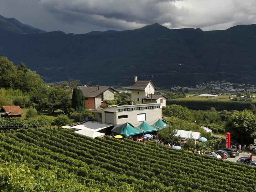
[{"label": "dark forested mountain range across the valley under the clouds", "polygon": [[133,76],[157,87],[227,80],[256,82],[256,25],[226,30],[139,29],[87,34],[46,32],[0,16],[0,56],[24,62],[46,82],[129,86]]}]

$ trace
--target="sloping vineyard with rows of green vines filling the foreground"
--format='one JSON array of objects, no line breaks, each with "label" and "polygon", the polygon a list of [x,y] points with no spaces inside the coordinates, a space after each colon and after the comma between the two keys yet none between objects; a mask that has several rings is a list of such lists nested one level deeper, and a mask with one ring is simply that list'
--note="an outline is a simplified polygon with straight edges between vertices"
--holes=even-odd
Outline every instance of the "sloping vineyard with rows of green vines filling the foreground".
[{"label": "sloping vineyard with rows of green vines filling the foreground", "polygon": [[69,130],[0,135],[1,191],[256,191],[255,169]]}]

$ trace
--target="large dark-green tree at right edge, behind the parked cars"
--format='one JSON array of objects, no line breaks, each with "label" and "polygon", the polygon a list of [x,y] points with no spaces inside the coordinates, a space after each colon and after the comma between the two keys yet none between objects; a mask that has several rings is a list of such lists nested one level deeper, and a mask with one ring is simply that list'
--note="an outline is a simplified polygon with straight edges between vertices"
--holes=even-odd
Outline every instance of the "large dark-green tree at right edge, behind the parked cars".
[{"label": "large dark-green tree at right edge, behind the parked cars", "polygon": [[226,124],[226,131],[231,133],[231,137],[238,142],[251,143],[256,132],[256,119],[249,110],[234,112]]}]

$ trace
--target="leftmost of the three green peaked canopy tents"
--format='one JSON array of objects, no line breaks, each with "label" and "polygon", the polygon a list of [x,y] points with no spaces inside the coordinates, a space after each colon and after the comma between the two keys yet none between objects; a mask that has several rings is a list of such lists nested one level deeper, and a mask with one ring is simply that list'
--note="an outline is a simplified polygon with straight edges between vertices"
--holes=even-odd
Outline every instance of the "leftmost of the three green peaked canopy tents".
[{"label": "leftmost of the three green peaked canopy tents", "polygon": [[133,126],[131,123],[128,122],[124,124],[117,124],[111,131],[126,137],[129,137],[130,135],[137,135],[143,133],[143,130]]}]

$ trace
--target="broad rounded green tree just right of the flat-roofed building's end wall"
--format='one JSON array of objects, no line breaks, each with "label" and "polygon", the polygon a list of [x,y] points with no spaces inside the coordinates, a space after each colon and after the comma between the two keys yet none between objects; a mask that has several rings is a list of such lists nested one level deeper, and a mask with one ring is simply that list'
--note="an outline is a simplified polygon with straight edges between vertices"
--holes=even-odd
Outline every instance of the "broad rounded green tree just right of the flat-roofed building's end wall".
[{"label": "broad rounded green tree just right of the flat-roofed building's end wall", "polygon": [[191,111],[188,110],[187,107],[182,107],[180,105],[168,105],[162,112],[166,117],[174,116],[190,122],[193,120]]}]

